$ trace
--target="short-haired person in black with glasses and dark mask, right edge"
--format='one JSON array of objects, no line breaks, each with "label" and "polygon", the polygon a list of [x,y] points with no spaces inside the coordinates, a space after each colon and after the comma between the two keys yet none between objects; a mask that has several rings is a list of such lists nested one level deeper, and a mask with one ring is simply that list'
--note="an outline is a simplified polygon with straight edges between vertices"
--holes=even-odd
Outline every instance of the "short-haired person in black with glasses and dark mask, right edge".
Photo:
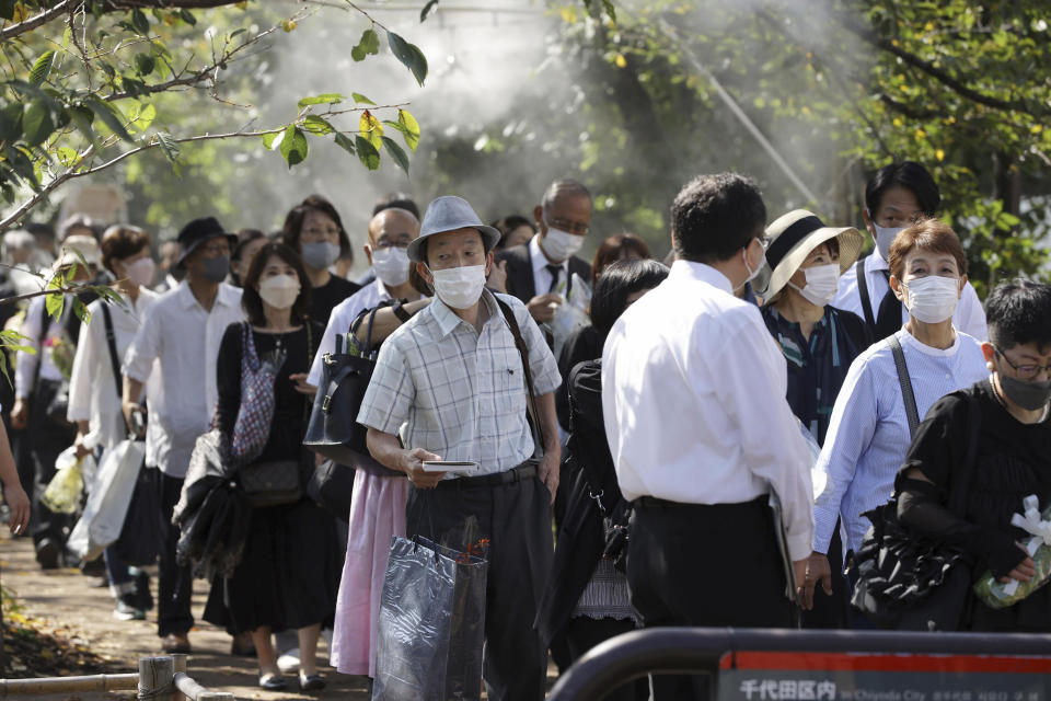
[{"label": "short-haired person in black with glasses and dark mask, right edge", "polygon": [[[1005,583],[1028,582],[1035,564],[1018,543],[1029,535],[1010,519],[1029,495],[1039,498],[1041,510],[1051,506],[1051,287],[1027,280],[1001,285],[989,296],[985,314],[989,342],[982,352],[992,376],[931,409],[898,475],[898,515],[913,531],[971,554],[972,578],[990,570]],[[968,466],[975,426],[977,458]],[[947,504],[962,482],[968,484],[960,518]],[[1051,631],[1051,587],[1002,609],[971,598],[961,630]]]}]

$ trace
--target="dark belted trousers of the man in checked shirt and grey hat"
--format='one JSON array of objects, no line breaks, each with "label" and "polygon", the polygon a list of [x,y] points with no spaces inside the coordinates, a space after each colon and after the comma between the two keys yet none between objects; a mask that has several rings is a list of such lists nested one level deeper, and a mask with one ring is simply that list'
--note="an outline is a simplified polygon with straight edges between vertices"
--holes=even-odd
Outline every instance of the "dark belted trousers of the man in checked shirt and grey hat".
[{"label": "dark belted trousers of the man in checked shirt and grey hat", "polygon": [[[459,483],[459,484],[457,484]],[[462,549],[470,516],[480,538],[489,539],[486,579],[483,676],[492,701],[541,701],[547,677],[547,651],[533,628],[551,571],[551,494],[536,478],[497,486],[461,480],[435,490],[408,491],[409,536],[418,533]]]}]

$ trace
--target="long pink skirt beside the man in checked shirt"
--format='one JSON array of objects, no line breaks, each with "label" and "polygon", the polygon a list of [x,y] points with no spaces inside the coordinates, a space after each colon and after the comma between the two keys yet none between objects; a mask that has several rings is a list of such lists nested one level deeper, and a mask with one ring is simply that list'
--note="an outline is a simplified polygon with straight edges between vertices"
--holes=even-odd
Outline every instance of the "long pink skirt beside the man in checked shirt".
[{"label": "long pink skirt beside the man in checked shirt", "polygon": [[350,497],[347,560],[339,579],[333,667],[345,675],[376,677],[376,633],[391,538],[405,536],[408,480],[357,472]]}]

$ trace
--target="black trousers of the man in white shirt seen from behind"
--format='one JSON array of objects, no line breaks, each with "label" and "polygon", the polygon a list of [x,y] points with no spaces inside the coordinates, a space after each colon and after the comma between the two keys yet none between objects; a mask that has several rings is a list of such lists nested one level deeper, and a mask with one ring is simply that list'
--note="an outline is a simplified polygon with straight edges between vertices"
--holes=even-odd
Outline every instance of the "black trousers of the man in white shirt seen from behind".
[{"label": "black trousers of the man in white shirt seen from behind", "polygon": [[[766,497],[742,504],[635,502],[627,582],[644,628],[789,628],[793,606]],[[703,677],[654,677],[654,699],[706,698]]]}]

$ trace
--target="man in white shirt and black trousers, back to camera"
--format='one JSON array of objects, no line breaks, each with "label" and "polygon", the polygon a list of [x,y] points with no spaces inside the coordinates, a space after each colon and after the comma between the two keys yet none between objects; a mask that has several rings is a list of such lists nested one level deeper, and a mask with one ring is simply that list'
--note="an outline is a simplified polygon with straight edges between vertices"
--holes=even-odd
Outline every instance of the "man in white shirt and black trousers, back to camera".
[{"label": "man in white shirt and black trousers, back to camera", "polygon": [[[734,296],[763,264],[765,217],[740,175],[691,181],[671,206],[671,274],[605,342],[605,430],[635,507],[627,578],[646,628],[793,623],[776,532],[802,583],[809,455],[785,400],[784,356],[759,309]],[[696,698],[683,683],[658,680],[655,696]]]}]

